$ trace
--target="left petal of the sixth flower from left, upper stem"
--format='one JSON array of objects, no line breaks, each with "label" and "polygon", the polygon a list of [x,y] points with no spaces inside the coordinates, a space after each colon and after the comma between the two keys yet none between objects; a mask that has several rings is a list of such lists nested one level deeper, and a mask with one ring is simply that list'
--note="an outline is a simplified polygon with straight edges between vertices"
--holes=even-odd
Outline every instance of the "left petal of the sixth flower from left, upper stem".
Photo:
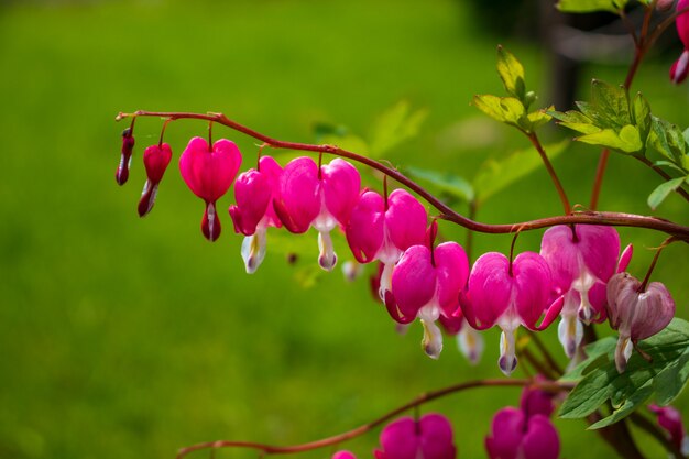
[{"label": "left petal of the sixth flower from left, upper stem", "polygon": [[347,242],[359,263],[375,260],[383,244],[385,204],[375,192],[364,192],[352,209],[344,230]]}]

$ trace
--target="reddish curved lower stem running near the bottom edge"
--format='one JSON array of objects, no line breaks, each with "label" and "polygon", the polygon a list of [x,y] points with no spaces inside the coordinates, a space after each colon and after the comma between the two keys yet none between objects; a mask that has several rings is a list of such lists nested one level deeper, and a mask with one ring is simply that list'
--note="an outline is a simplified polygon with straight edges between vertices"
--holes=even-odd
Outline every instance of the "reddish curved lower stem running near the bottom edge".
[{"label": "reddish curved lower stem running near the bottom edge", "polygon": [[219,441],[208,441],[198,445],[193,445],[186,448],[181,449],[177,452],[177,459],[184,458],[186,455],[193,451],[198,451],[200,449],[208,448],[250,448],[262,451],[266,455],[291,455],[296,452],[309,451],[313,449],[325,448],[332,445],[338,445],[342,441],[350,440],[360,435],[365,434],[367,431],[372,430],[373,428],[380,426],[381,424],[392,419],[395,416],[401,415],[404,412],[407,412],[412,408],[415,408],[419,405],[434,401],[436,398],[444,397],[446,395],[450,395],[453,393],[458,393],[461,391],[466,391],[469,389],[475,387],[496,387],[496,386],[525,386],[533,385],[534,387],[539,387],[545,391],[559,392],[559,391],[569,391],[572,389],[571,385],[556,382],[539,382],[532,380],[478,380],[478,381],[469,381],[466,383],[460,383],[456,385],[451,385],[449,387],[440,389],[438,391],[427,392],[426,394],[419,395],[414,398],[412,402],[406,403],[403,406],[400,406],[392,412],[379,417],[378,419],[359,426],[349,431],[335,435],[332,437],[322,438],[320,440],[310,441],[302,445],[293,445],[293,446],[273,446],[273,445],[264,445],[252,441],[230,441],[230,440],[219,440]]}]

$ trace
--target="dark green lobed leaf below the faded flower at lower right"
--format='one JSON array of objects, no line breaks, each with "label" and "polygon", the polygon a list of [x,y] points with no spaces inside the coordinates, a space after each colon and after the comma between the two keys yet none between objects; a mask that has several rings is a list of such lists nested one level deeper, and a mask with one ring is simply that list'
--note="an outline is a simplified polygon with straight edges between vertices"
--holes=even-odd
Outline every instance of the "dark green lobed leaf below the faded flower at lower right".
[{"label": "dark green lobed leaf below the faded flower at lower right", "polygon": [[682,319],[672,319],[664,330],[639,342],[652,361],[634,352],[622,374],[615,369],[610,342],[598,346],[602,352],[591,352],[580,364],[588,370],[573,370],[582,378],[560,407],[560,417],[586,417],[610,401],[613,413],[590,427],[601,428],[624,418],[653,394],[657,403],[670,403],[689,379],[689,323]]}]

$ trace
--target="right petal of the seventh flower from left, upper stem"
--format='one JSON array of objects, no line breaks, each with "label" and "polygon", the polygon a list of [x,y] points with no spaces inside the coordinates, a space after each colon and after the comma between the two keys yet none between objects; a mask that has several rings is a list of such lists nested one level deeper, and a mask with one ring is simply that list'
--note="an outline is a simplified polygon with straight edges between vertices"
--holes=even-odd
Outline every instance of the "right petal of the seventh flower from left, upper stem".
[{"label": "right petal of the seventh flower from left, upper stem", "polygon": [[469,259],[457,242],[445,242],[435,248],[438,304],[446,316],[459,307],[459,293],[469,277]]}]

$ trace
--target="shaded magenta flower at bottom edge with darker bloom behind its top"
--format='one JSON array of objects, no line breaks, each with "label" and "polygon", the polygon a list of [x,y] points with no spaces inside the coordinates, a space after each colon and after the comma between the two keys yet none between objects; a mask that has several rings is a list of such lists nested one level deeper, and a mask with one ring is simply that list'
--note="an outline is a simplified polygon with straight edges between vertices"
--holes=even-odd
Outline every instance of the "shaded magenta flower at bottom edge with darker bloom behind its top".
[{"label": "shaded magenta flower at bottom edge with darker bloom behind its top", "polygon": [[485,449],[491,459],[556,459],[560,439],[550,422],[550,395],[525,387],[520,408],[508,406],[493,417]]}]

